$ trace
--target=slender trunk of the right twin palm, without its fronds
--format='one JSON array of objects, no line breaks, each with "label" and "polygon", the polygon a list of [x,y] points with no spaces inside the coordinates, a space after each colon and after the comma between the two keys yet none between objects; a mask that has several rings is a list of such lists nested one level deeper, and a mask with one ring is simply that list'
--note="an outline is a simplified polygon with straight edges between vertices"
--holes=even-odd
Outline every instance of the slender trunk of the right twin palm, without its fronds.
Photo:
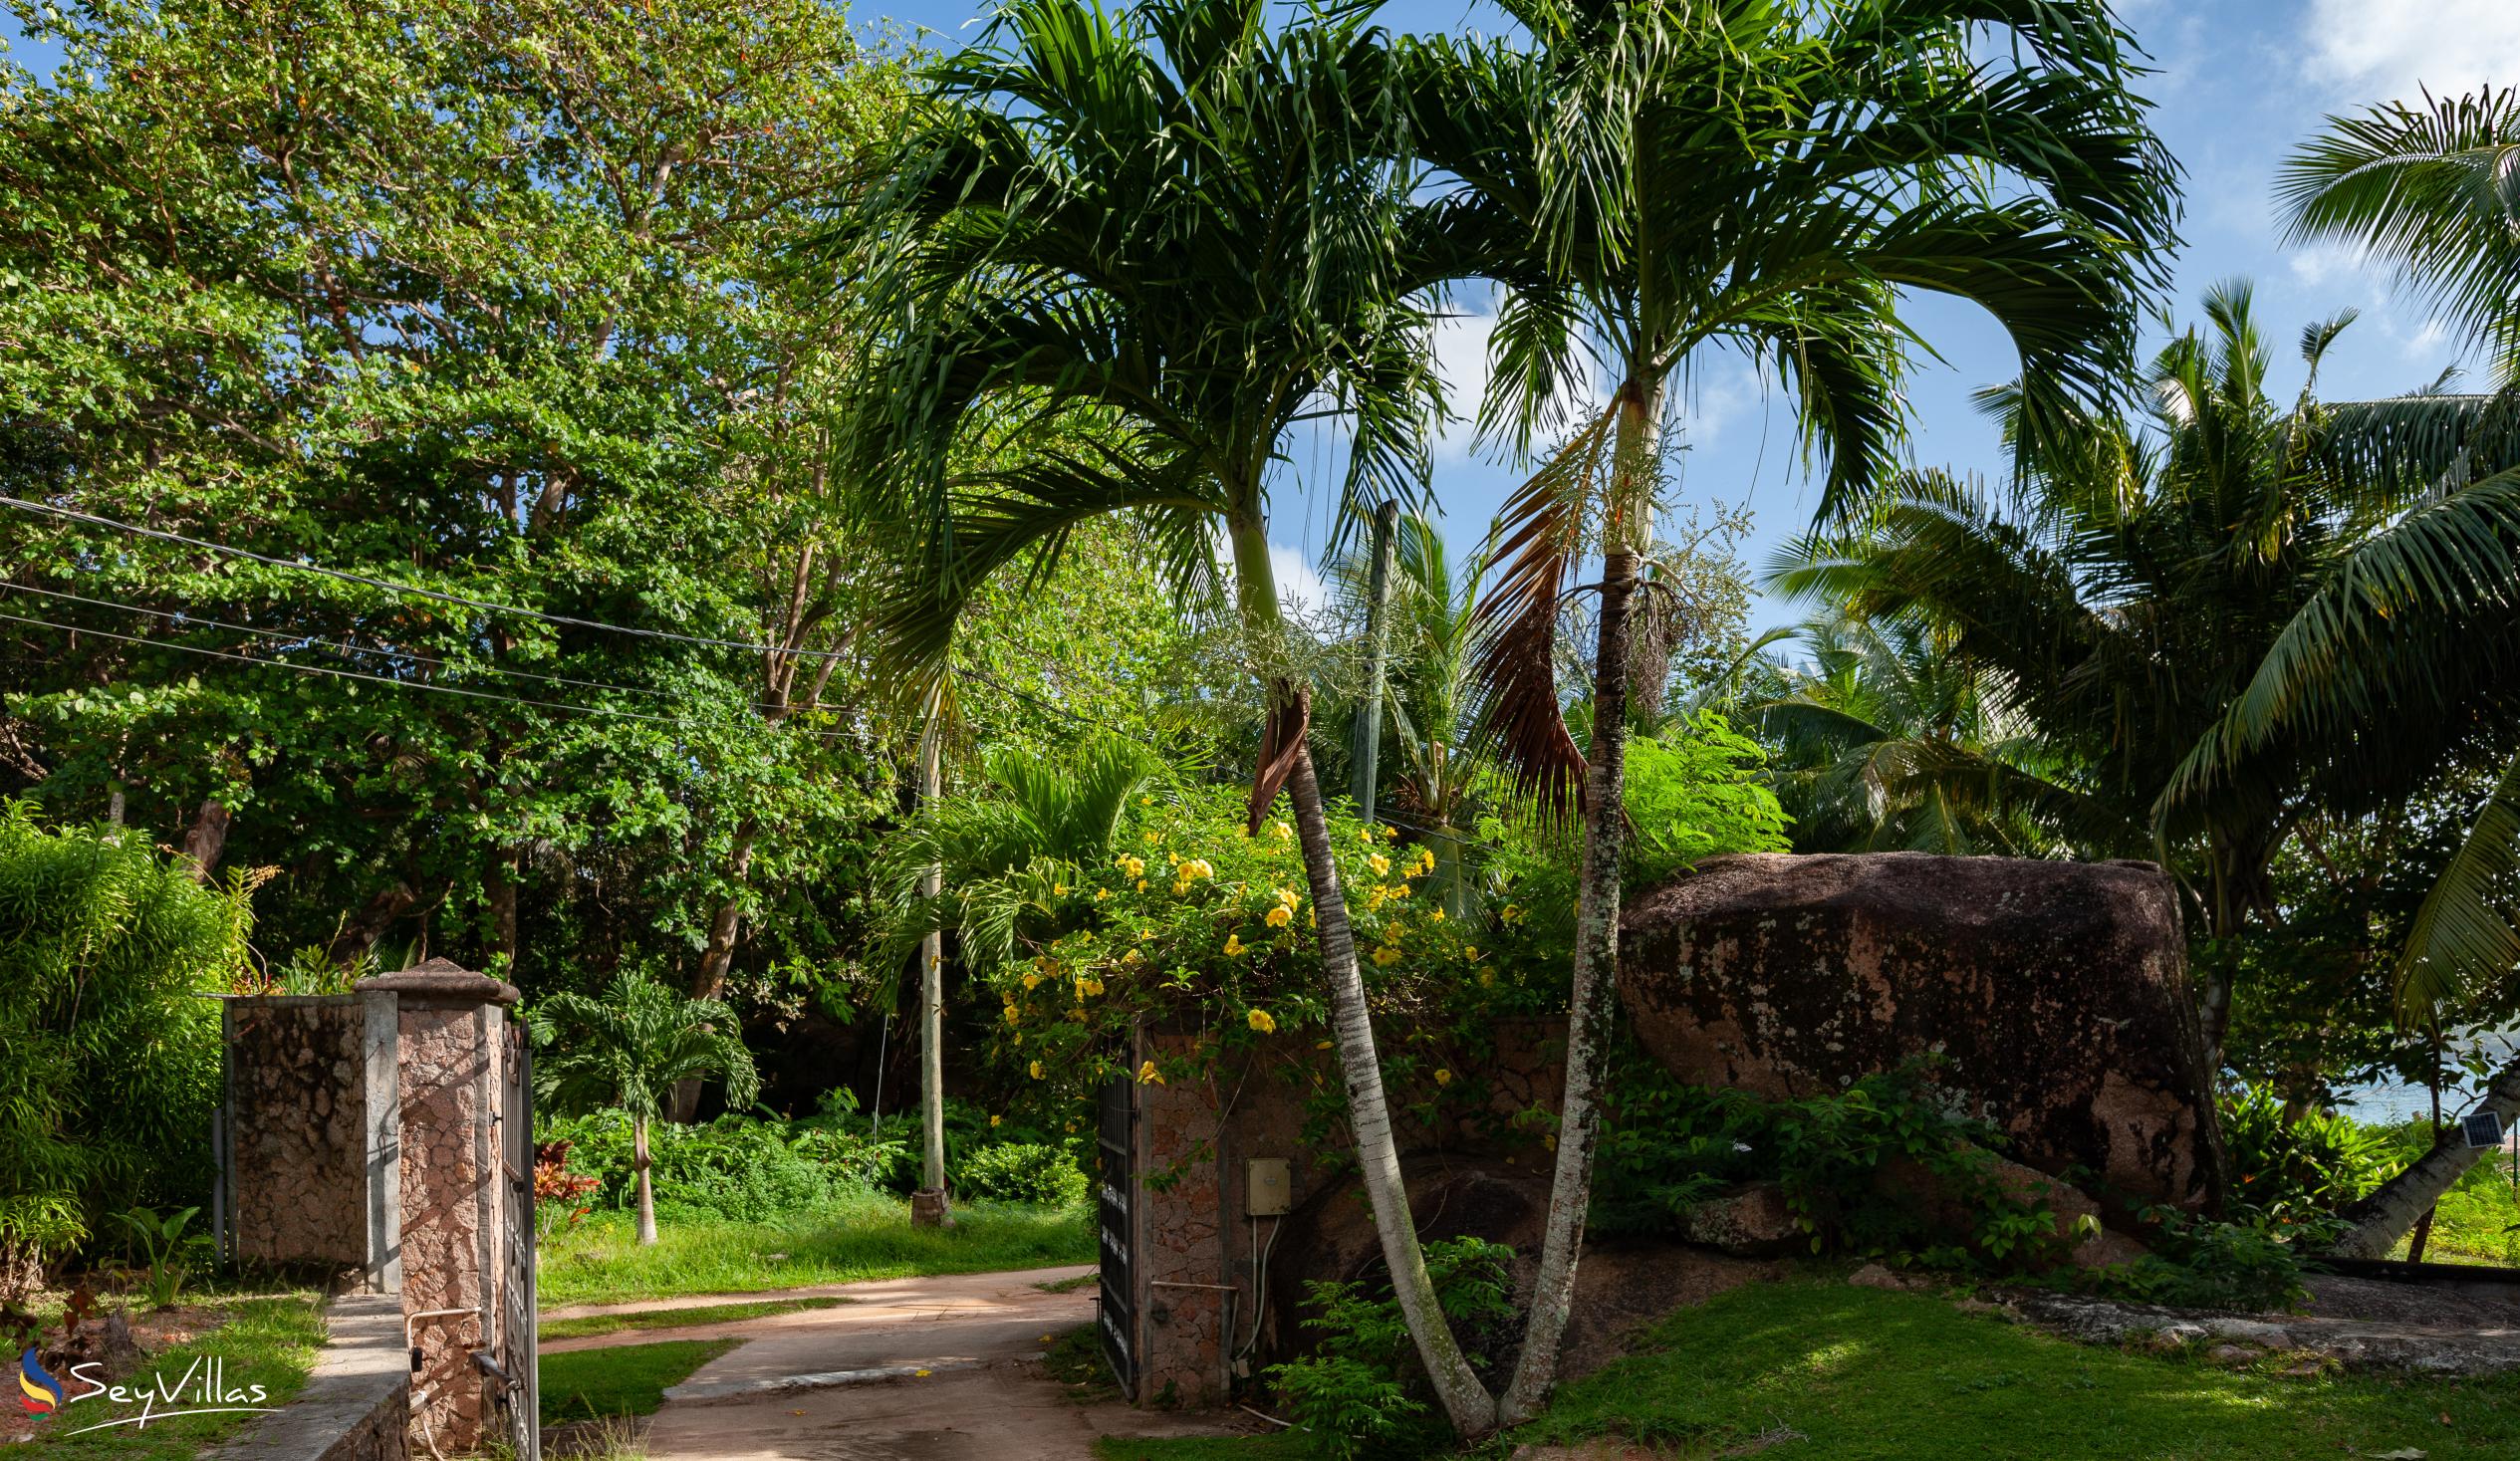
[{"label": "slender trunk of the right twin palm, without its fronds", "polygon": [[1653,426],[1661,390],[1635,380],[1620,390],[1610,514],[1603,532],[1600,625],[1593,642],[1593,746],[1585,756],[1585,839],[1575,894],[1575,998],[1567,1008],[1567,1088],[1557,1113],[1557,1171],[1540,1239],[1522,1358],[1504,1388],[1512,1426],[1547,1401],[1557,1380],[1557,1343],[1575,1310],[1575,1262],[1593,1207],[1593,1151],[1600,1146],[1600,1086],[1618,992],[1618,872],[1628,839],[1628,693],[1638,549],[1653,514]]}]

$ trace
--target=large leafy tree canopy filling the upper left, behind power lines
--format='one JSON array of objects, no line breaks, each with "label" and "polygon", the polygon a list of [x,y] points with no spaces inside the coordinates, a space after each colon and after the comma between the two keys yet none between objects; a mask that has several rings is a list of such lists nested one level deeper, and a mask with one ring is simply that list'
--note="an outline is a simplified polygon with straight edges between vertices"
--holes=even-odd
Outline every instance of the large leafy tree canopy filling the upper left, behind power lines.
[{"label": "large leafy tree canopy filling the upper left, behind power lines", "polygon": [[779,262],[892,65],[806,0],[13,10],[0,491],[280,562],[0,509],[0,778],[282,867],[282,947],[829,960],[887,806]]}]

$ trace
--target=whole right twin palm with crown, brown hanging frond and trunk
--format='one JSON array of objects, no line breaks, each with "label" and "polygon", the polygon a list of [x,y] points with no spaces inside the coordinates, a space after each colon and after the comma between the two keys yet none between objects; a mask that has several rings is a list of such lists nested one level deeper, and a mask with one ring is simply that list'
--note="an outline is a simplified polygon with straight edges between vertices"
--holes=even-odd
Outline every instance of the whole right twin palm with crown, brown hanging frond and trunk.
[{"label": "whole right twin palm with crown, brown hanging frond and trunk", "polygon": [[[2104,401],[2160,285],[2177,169],[2097,3],[1507,0],[1540,40],[1424,40],[1424,154],[1457,179],[1454,232],[1504,287],[1482,418],[1527,446],[1593,365],[1502,521],[1484,670],[1522,783],[1585,809],[1567,1088],[1547,1239],[1504,1401],[1555,1373],[1590,1202],[1618,955],[1625,708],[1638,564],[1661,494],[1666,383],[1714,345],[1772,365],[1824,511],[1852,506],[1900,431],[1900,290],[1976,300],[2021,350],[2034,426]],[[1600,559],[1593,743],[1565,730],[1557,605]]]}]

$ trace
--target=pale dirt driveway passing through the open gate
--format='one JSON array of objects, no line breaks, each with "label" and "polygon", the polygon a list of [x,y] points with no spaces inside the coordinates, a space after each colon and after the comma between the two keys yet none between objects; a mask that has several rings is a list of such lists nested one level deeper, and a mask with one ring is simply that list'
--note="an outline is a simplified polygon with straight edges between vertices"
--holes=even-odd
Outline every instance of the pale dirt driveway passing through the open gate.
[{"label": "pale dirt driveway passing through the open gate", "polygon": [[1043,1340],[1094,1322],[1094,1290],[1051,1295],[1036,1285],[1079,1272],[690,1300],[673,1307],[806,1295],[849,1302],[731,1325],[559,1340],[549,1350],[708,1335],[746,1340],[665,1393],[648,1428],[653,1461],[1089,1461],[1096,1436],[1230,1433],[1232,1426],[1215,1418],[1076,1406],[1043,1375]]}]

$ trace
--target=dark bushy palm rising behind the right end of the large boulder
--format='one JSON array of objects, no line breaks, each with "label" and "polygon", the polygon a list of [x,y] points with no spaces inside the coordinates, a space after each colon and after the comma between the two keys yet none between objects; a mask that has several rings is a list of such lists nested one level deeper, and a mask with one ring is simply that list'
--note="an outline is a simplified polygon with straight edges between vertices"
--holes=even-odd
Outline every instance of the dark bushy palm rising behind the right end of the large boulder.
[{"label": "dark bushy palm rising behind the right end of the large boulder", "polygon": [[[2303,330],[2311,373],[2291,408],[2265,393],[2271,350],[2248,287],[2213,290],[2205,315],[2145,373],[2145,418],[2024,448],[2008,501],[1910,474],[1870,532],[1817,544],[1774,582],[1860,620],[1930,625],[1950,660],[1993,678],[2082,766],[2076,786],[2094,804],[2155,829],[2202,932],[2225,940],[2281,917],[2271,867],[2311,806],[2354,816],[2404,796],[2437,761],[2379,778],[2371,751],[2286,736],[2182,788],[2301,610],[2384,542],[2397,491],[2366,423],[2313,395],[2351,315]],[[2019,395],[1998,390],[1991,406],[2011,418]],[[2213,970],[2213,1063],[2228,1010],[2230,985]]]}]

